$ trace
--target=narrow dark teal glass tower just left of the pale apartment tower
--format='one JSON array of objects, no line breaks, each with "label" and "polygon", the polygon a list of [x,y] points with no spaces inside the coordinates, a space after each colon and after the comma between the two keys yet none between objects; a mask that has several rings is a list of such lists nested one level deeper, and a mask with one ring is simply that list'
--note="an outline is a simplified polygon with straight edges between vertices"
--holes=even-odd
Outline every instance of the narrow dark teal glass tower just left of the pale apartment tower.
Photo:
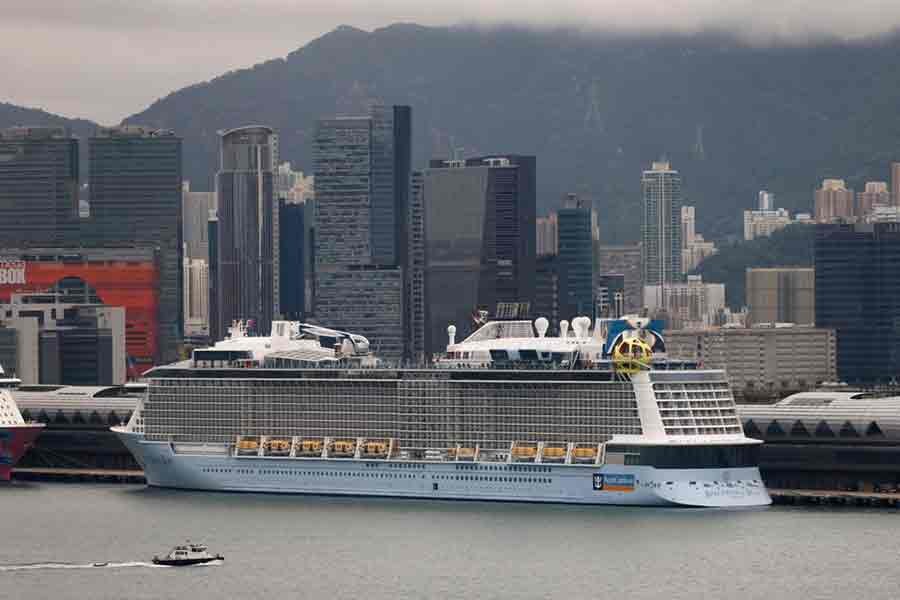
[{"label": "narrow dark teal glass tower just left of the pale apartment tower", "polygon": [[559,210],[559,311],[562,318],[594,316],[593,209],[569,194]]}]

